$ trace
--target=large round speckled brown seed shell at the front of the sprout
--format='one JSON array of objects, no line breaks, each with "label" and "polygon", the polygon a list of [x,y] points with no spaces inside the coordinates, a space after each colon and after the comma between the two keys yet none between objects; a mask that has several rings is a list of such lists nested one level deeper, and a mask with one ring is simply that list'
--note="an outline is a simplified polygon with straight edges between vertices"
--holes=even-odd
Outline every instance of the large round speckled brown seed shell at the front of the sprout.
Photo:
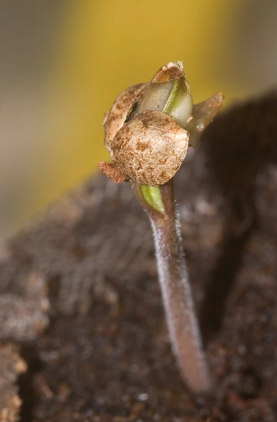
[{"label": "large round speckled brown seed shell at the front of the sprout", "polygon": [[111,141],[113,166],[140,184],[157,186],[170,180],[186,157],[189,134],[168,114],[138,114]]}]

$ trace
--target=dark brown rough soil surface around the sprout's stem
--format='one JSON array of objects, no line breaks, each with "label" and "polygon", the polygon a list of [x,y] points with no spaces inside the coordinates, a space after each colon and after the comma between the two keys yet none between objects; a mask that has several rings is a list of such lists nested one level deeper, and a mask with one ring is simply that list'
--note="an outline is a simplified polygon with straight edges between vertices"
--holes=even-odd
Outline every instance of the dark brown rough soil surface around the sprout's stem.
[{"label": "dark brown rough soil surface around the sprout's stem", "polygon": [[237,105],[176,176],[211,393],[172,355],[148,217],[98,175],[0,252],[1,422],[276,421],[276,139],[276,94]]}]

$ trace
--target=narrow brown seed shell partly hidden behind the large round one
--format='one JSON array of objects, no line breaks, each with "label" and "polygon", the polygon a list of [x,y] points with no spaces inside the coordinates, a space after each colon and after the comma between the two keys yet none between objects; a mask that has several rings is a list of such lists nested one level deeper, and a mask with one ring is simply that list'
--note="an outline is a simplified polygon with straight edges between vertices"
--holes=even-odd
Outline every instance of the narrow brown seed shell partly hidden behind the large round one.
[{"label": "narrow brown seed shell partly hidden behind the large round one", "polygon": [[105,148],[111,150],[111,141],[116,136],[116,132],[122,128],[132,105],[139,100],[143,89],[148,84],[132,85],[121,92],[111,106],[109,113],[105,115],[103,126],[105,128]]}]

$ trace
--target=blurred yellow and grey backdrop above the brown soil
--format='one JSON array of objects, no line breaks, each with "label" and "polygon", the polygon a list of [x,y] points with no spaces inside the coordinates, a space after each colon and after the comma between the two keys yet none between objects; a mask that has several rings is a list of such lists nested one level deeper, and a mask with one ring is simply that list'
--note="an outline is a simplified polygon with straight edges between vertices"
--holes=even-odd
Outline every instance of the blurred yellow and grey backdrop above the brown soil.
[{"label": "blurred yellow and grey backdrop above the brown soil", "polygon": [[276,0],[0,0],[0,241],[109,159],[125,87],[183,60],[195,102],[277,82]]}]

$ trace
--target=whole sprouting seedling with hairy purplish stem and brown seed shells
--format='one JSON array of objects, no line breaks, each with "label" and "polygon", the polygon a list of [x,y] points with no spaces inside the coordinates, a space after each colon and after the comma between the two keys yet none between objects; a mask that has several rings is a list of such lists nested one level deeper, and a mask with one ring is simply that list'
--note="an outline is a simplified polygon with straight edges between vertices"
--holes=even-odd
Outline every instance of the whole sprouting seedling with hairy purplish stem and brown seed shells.
[{"label": "whole sprouting seedling with hairy purplish stem and brown seed shells", "polygon": [[172,348],[194,392],[208,391],[210,378],[181,247],[174,175],[222,101],[219,92],[193,105],[182,63],[168,63],[151,82],[129,87],[116,98],[104,121],[112,161],[99,164],[114,182],[131,181],[148,213]]}]

